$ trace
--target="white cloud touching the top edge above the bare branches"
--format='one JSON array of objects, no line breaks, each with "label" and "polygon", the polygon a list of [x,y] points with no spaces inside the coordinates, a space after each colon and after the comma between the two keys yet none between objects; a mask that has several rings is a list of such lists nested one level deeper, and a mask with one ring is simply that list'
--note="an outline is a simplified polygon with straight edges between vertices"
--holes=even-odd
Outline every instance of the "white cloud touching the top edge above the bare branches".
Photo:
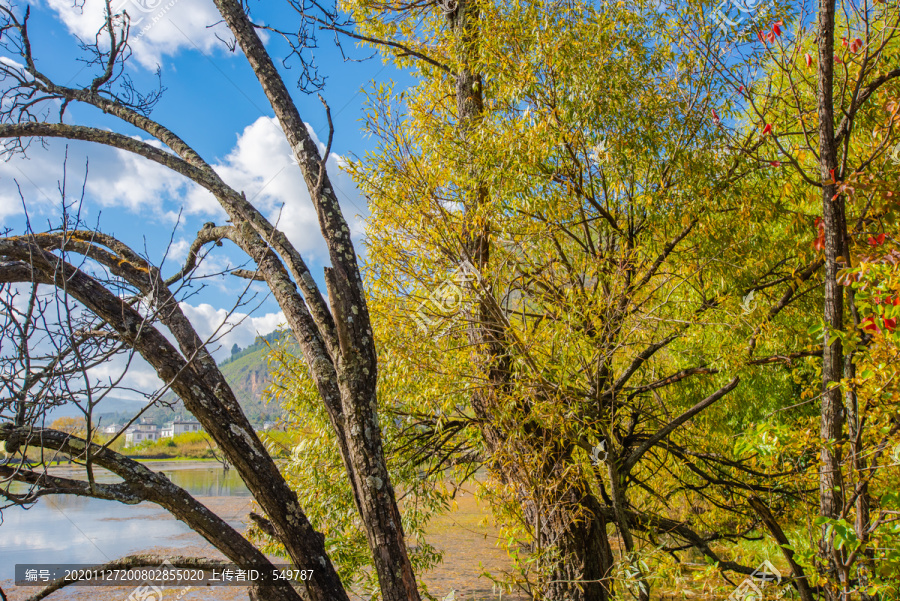
[{"label": "white cloud touching the top edge above the bare branches", "polygon": [[[103,26],[104,0],[47,0],[47,4],[82,40],[94,39]],[[211,53],[222,44],[217,33],[222,39],[230,37],[211,0],[114,0],[112,7],[114,14],[127,12],[131,18],[129,43],[134,59],[148,69],[182,49]]]}]

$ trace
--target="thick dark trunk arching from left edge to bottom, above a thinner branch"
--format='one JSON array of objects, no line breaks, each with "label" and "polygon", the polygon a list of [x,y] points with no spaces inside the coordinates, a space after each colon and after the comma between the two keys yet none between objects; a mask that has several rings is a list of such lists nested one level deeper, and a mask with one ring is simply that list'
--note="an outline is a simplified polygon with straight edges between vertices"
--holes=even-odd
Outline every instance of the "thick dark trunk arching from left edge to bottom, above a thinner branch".
[{"label": "thick dark trunk arching from left edge to bottom, above a thinner branch", "polygon": [[[313,529],[300,509],[296,493],[287,485],[240,411],[231,388],[221,371],[215,368],[212,358],[202,351],[193,361],[186,362],[159,331],[144,323],[144,317],[139,312],[82,271],[30,244],[34,238],[0,240],[0,255],[18,259],[32,271],[25,281],[65,287],[68,294],[94,315],[104,319],[128,346],[140,353],[160,379],[170,383],[185,407],[203,424],[241,474],[247,488],[275,526],[294,564],[298,568],[314,569],[313,578],[305,582],[313,601],[347,599],[347,593],[325,551],[324,537]],[[151,270],[142,270],[127,261],[113,265],[110,269],[114,273],[131,281],[139,289],[143,289],[142,281],[144,284],[151,281]],[[186,321],[186,318],[178,305],[173,306],[167,300],[169,297],[165,293],[168,289],[160,286],[159,282],[156,284],[156,292],[150,298],[161,304],[163,322],[169,325],[182,350],[189,351],[193,345],[199,344],[199,338],[192,328],[187,328],[181,321],[182,318]],[[198,351],[201,349],[202,345],[197,347]],[[186,354],[192,356],[189,352]],[[163,498],[153,500],[170,511],[178,507],[169,507]]]}]

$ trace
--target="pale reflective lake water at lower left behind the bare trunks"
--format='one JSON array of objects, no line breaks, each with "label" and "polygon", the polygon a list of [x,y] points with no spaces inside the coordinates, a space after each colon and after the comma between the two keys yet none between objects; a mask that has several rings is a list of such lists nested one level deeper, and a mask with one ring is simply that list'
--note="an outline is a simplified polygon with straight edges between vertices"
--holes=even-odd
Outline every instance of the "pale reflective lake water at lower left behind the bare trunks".
[{"label": "pale reflective lake water at lower left behind the bare trunks", "polygon": [[[241,528],[251,500],[235,470],[225,472],[218,464],[153,462],[147,467],[163,472],[172,482],[195,497],[246,497],[243,511],[228,519]],[[83,472],[54,468],[52,475],[84,479]],[[118,478],[100,473],[98,482]],[[124,505],[71,495],[42,497],[30,509],[12,507],[3,511],[0,524],[0,581],[14,576],[15,564],[99,564],[149,547],[196,544],[198,537],[182,522],[170,519],[152,503]]]}]

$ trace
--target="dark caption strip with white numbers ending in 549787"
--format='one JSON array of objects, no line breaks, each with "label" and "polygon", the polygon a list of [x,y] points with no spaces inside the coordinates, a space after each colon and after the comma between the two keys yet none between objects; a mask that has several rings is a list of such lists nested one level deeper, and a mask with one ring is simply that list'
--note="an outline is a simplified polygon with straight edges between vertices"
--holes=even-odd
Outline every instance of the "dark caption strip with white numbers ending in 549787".
[{"label": "dark caption strip with white numbers ending in 549787", "polygon": [[79,564],[16,564],[16,586],[49,586],[64,581],[69,586],[246,586],[265,582],[303,582],[312,578],[312,570],[289,566],[267,569],[241,569],[222,565],[217,568],[177,568],[166,562],[160,566],[128,569],[98,568]]}]

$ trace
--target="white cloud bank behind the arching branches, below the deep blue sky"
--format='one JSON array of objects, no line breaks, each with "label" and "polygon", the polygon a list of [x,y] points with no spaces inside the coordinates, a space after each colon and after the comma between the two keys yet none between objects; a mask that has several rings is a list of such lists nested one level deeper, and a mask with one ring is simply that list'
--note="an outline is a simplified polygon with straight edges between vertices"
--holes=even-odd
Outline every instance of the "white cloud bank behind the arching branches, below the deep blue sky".
[{"label": "white cloud bank behind the arching branches, below the deep blue sky", "polygon": [[[307,126],[320,152],[325,147]],[[155,140],[149,144],[161,147]],[[21,214],[22,203],[16,182],[22,187],[29,213],[56,218],[60,201],[57,183],[63,179],[63,164],[68,146],[68,196],[80,193],[85,165],[89,165],[86,191],[89,209],[123,208],[171,227],[179,210],[189,216],[225,221],[225,212],[205,189],[158,163],[125,150],[88,142],[47,140],[47,150],[38,146],[29,158],[14,157],[0,162],[0,224]],[[328,157],[328,174],[341,201],[357,252],[368,216],[365,198],[341,167],[339,154]],[[310,201],[300,168],[294,162],[287,139],[274,118],[260,117],[237,137],[234,148],[213,168],[230,186],[277,223],[304,258],[327,262],[325,242]],[[90,211],[89,211],[90,212]],[[152,223],[152,222],[151,222]],[[149,224],[146,224],[149,225]],[[147,228],[142,233],[152,235]],[[126,240],[129,242],[129,240]],[[133,240],[130,242],[134,243]],[[181,258],[186,250],[179,242],[171,259]]]}]

